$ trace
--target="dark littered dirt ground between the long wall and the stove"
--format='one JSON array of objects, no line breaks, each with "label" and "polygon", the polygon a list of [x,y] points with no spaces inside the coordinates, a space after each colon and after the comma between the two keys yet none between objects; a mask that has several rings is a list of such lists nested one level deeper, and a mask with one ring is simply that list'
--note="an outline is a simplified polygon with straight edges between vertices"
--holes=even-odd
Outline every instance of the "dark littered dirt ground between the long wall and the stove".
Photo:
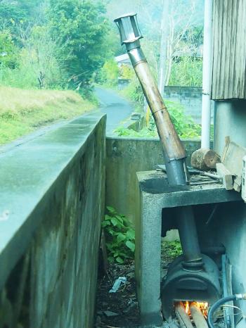
[{"label": "dark littered dirt ground between the long wall and the stove", "polygon": [[[169,246],[162,245],[162,277],[166,275],[169,263],[177,256],[175,251],[170,252],[170,248],[165,250],[166,247]],[[126,277],[127,282],[122,284],[116,293],[109,293],[118,277]],[[142,327],[136,300],[134,260],[127,265],[111,264],[108,274],[100,275],[99,272],[98,278],[95,328],[127,327]]]}]

